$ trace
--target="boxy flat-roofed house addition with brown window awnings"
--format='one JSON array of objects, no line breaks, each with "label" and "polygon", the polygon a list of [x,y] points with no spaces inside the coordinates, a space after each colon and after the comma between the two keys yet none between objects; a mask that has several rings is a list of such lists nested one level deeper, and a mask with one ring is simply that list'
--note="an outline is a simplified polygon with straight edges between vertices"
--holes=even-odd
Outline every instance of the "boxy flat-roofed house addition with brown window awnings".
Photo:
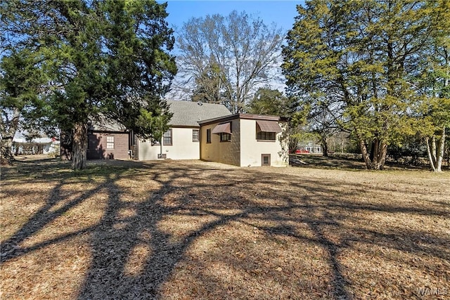
[{"label": "boxy flat-roofed house addition with brown window awnings", "polygon": [[200,159],[239,167],[286,166],[280,117],[236,114],[198,123]]}]

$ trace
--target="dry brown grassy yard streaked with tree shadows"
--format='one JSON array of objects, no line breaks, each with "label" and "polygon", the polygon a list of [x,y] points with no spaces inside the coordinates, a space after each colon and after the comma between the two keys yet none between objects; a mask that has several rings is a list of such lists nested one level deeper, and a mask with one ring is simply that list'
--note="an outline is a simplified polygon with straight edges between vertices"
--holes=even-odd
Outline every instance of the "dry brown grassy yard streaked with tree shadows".
[{"label": "dry brown grassy yard streaked with tree shadows", "polygon": [[1,299],[450,296],[449,172],[52,159],[1,171]]}]

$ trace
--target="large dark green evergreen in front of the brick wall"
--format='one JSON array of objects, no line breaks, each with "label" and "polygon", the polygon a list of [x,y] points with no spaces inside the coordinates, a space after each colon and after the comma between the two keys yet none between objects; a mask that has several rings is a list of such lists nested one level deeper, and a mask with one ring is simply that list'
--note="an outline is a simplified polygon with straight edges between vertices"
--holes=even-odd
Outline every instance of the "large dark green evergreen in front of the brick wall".
[{"label": "large dark green evergreen in front of the brick wall", "polygon": [[[112,119],[143,138],[167,124],[162,96],[176,65],[166,6],[153,0],[1,3],[6,56],[26,48],[39,57],[49,77],[41,95],[56,124],[74,134],[74,168],[86,166],[89,120]],[[143,119],[158,127],[142,126]]]}]

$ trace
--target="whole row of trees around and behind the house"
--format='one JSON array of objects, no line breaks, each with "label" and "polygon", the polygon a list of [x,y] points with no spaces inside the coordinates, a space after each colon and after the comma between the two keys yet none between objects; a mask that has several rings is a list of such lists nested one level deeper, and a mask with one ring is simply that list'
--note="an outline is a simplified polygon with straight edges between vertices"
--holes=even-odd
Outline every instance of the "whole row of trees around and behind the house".
[{"label": "whole row of trees around and behind the house", "polygon": [[[345,131],[368,169],[411,136],[441,171],[450,126],[450,2],[311,0],[293,28],[233,11],[191,18],[174,32],[155,1],[4,1],[1,138],[55,124],[86,161],[91,119],[106,117],[160,139],[164,96],[221,103],[233,113],[283,115],[293,144]],[[177,56],[170,54],[177,43]],[[285,94],[271,88],[285,78]],[[295,145],[293,146],[295,147]],[[10,147],[11,148],[11,147]]]}]

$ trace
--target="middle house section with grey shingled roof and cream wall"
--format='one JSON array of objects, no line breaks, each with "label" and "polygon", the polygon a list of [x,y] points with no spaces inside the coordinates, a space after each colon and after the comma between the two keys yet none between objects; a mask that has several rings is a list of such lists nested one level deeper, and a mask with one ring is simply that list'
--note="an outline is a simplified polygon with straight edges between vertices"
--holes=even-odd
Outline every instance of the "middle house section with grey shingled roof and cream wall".
[{"label": "middle house section with grey shingled roof and cream wall", "polygon": [[162,137],[162,145],[136,138],[135,159],[200,159],[200,124],[198,122],[203,119],[231,115],[231,112],[220,104],[174,100],[167,100],[167,103],[174,115],[169,122],[169,130]]}]

